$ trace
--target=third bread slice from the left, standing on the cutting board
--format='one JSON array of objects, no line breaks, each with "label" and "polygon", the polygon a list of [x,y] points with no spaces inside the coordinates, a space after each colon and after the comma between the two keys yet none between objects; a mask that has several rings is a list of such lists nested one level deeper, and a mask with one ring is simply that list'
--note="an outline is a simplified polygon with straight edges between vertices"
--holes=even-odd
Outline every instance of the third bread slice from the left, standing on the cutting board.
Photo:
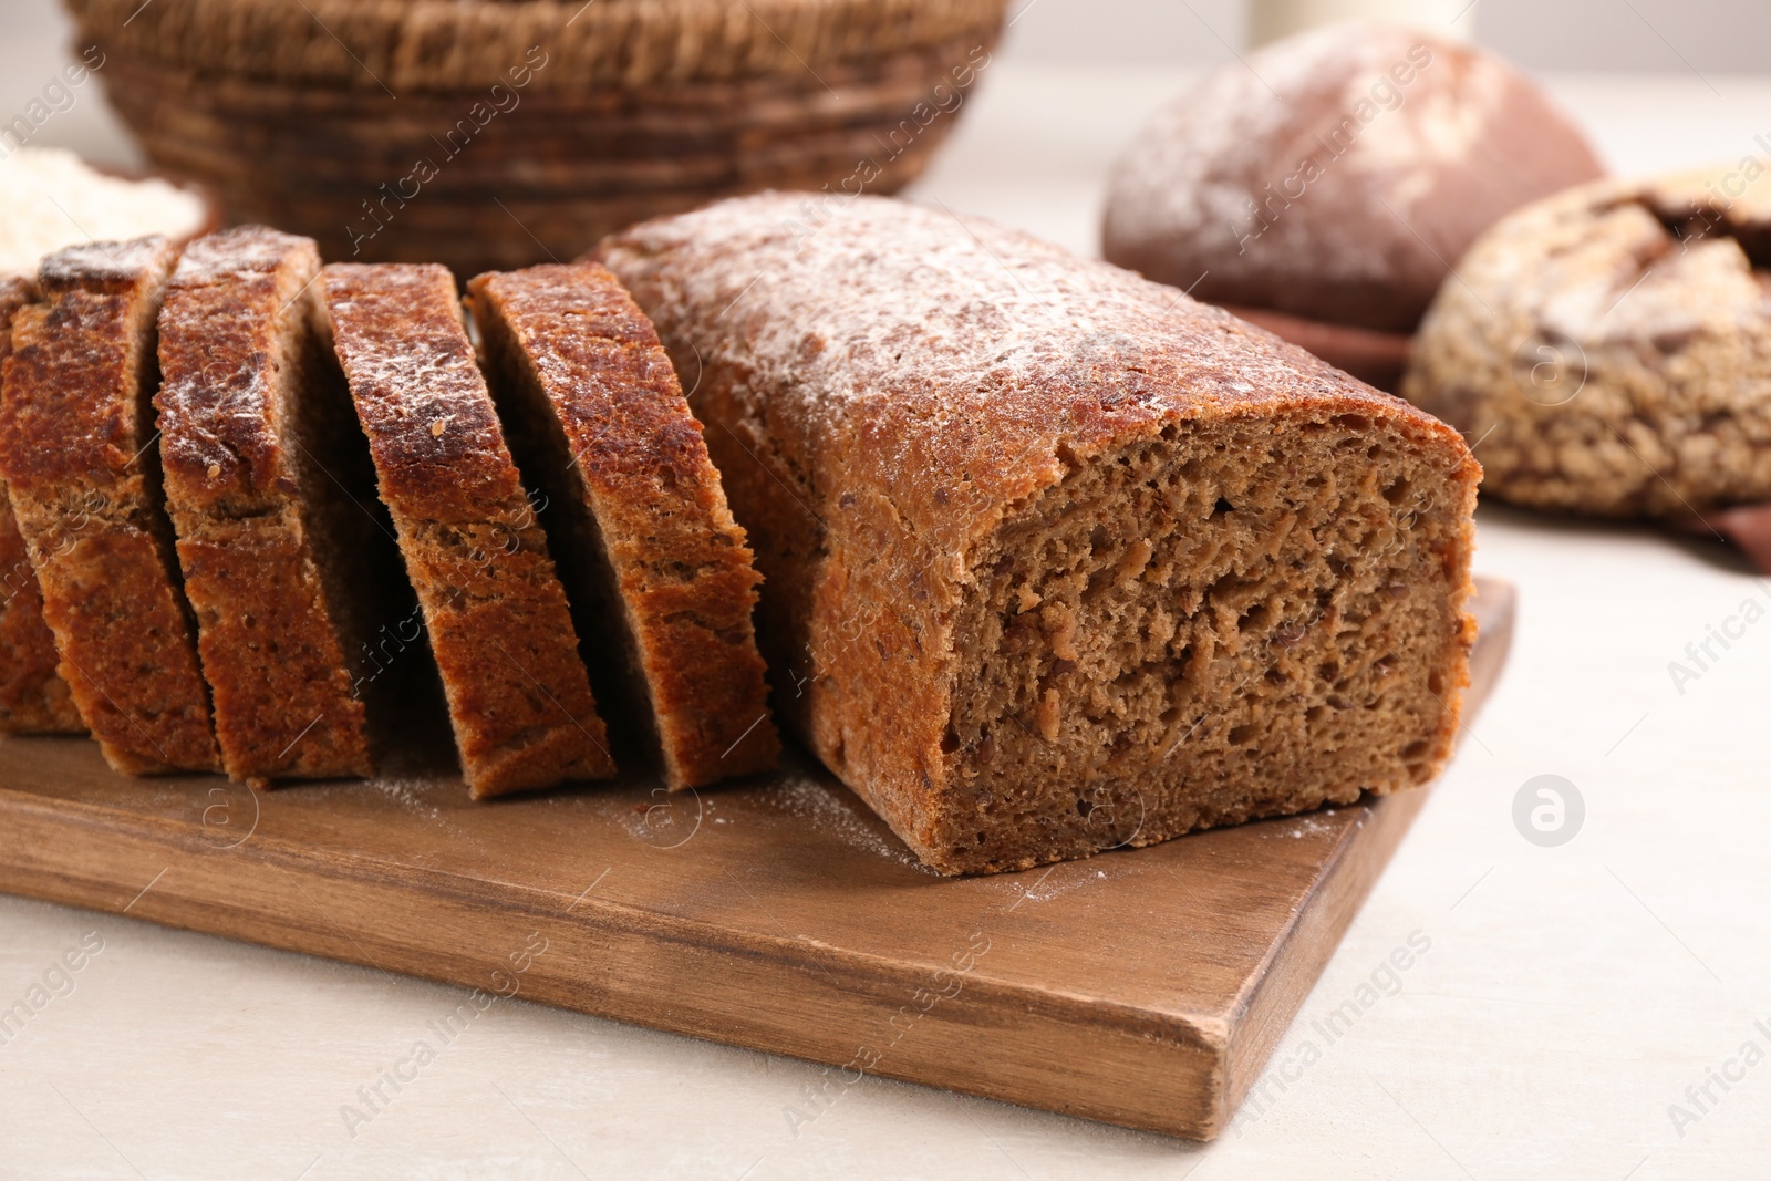
[{"label": "third bread slice from the left, standing on the cutting board", "polygon": [[367,591],[402,581],[319,269],[306,237],[225,230],[186,248],[159,313],[166,508],[221,763],[257,784],[374,774],[352,657],[383,621]]}]

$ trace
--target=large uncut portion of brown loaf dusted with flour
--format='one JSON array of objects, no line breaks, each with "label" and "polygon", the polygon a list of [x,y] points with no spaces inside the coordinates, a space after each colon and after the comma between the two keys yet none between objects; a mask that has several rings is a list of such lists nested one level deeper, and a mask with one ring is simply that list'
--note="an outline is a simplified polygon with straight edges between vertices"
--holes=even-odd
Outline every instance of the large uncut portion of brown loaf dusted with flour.
[{"label": "large uncut portion of brown loaf dusted with flour", "polygon": [[942,873],[1350,802],[1447,760],[1479,467],[1172,289],[760,195],[607,239],[765,575],[783,715]]}]

